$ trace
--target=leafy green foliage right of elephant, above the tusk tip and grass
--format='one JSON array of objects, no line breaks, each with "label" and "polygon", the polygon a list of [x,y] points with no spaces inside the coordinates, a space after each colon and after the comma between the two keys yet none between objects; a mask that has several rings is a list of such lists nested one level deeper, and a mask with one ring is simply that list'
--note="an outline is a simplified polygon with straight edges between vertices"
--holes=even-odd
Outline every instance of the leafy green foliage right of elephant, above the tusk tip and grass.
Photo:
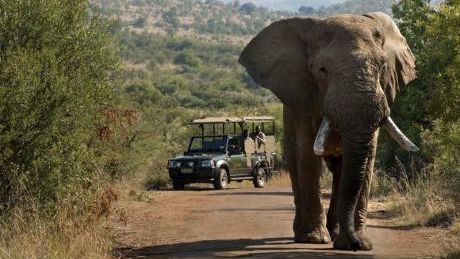
[{"label": "leafy green foliage right of elephant, above the tusk tip and grass", "polygon": [[424,137],[422,155],[428,161],[450,165],[449,170],[456,173],[460,163],[453,148],[460,144],[460,38],[455,36],[460,25],[459,10],[457,1],[431,8],[429,1],[406,0],[393,8],[417,58],[418,70],[418,78],[403,89],[393,112],[408,118],[411,124],[401,124],[419,142]]}]

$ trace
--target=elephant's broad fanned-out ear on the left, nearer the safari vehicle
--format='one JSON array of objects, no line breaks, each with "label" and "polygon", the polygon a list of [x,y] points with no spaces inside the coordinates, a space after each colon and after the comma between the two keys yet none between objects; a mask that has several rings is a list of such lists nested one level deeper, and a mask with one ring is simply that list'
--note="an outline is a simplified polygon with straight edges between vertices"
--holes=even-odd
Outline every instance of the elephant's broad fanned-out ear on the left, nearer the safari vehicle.
[{"label": "elephant's broad fanned-out ear on the left, nearer the safari vehicle", "polygon": [[[239,62],[259,85],[270,89],[283,103],[308,91],[308,34],[313,19],[293,18],[272,23],[246,46]],[[303,95],[305,96],[305,95]]]}]

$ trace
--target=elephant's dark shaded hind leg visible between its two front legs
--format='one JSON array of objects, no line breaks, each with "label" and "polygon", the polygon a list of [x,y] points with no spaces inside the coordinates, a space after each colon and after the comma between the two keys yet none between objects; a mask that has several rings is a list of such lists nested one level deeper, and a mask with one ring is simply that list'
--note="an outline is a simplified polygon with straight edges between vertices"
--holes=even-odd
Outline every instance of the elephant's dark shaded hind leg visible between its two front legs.
[{"label": "elephant's dark shaded hind leg visible between its two front legs", "polygon": [[342,156],[327,156],[324,158],[327,168],[332,173],[332,191],[329,209],[327,210],[326,227],[334,240],[339,235],[339,215],[337,210],[337,201],[340,188],[340,173],[342,171]]}]

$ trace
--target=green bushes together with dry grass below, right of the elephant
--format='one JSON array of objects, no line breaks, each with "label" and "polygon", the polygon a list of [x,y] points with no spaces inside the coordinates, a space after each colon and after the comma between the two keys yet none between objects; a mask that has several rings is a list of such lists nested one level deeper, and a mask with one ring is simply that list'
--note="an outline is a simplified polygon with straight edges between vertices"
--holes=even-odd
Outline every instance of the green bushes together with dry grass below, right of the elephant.
[{"label": "green bushes together with dry grass below, right of the elephant", "polygon": [[454,36],[459,12],[460,3],[450,0],[435,8],[415,0],[393,6],[418,73],[392,112],[422,148],[407,154],[384,141],[380,157],[397,186],[391,212],[409,224],[449,228],[456,237],[450,258],[460,253],[460,38]]}]

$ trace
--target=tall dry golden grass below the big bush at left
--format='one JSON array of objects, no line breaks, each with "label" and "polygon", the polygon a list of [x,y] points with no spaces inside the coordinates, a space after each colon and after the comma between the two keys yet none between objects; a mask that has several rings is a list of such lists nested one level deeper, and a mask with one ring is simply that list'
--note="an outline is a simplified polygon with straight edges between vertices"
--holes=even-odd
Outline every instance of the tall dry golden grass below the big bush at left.
[{"label": "tall dry golden grass below the big bush at left", "polygon": [[14,209],[0,218],[0,258],[110,258],[112,238],[104,223],[115,199],[112,191],[83,214],[68,204],[57,205],[52,218],[33,204]]}]

